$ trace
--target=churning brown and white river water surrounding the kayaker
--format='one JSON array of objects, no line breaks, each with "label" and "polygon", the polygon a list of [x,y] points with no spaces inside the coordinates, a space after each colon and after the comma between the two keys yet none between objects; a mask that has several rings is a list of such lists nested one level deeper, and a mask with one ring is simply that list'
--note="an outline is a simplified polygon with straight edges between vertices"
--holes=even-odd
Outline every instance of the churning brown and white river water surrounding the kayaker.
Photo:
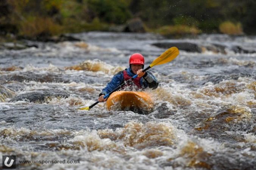
[{"label": "churning brown and white river water surrounding the kayaker", "polygon": [[[0,160],[14,155],[23,170],[256,169],[256,37],[70,36],[78,41],[0,51]],[[131,54],[147,67],[172,46],[178,57],[149,70],[159,81],[146,89],[149,114],[78,110]]]}]

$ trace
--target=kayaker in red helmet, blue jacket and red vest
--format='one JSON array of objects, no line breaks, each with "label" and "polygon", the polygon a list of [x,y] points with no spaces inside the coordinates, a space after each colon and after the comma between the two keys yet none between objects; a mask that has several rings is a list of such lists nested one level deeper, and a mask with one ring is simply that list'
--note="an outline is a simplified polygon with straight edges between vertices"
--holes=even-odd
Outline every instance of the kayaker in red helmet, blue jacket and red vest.
[{"label": "kayaker in red helmet, blue jacket and red vest", "polygon": [[144,68],[144,57],[141,54],[133,54],[129,60],[130,67],[118,72],[112,80],[107,84],[107,86],[102,90],[99,95],[98,101],[106,101],[107,98],[103,99],[103,97],[111,92],[112,90],[116,89],[116,87],[120,86],[120,84],[124,83],[125,81],[129,80],[134,75],[138,75],[131,84],[127,84],[122,87],[123,90],[126,91],[133,91],[133,90],[140,90],[145,89],[147,87],[156,89],[158,87],[158,80],[156,77],[151,74],[149,71],[142,72]]}]

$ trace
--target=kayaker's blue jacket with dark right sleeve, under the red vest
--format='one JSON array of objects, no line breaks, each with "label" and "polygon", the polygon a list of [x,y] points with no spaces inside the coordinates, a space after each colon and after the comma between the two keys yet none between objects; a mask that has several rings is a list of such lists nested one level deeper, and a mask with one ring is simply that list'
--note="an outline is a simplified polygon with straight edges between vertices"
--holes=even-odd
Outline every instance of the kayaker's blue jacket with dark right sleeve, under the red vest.
[{"label": "kayaker's blue jacket with dark right sleeve, under the red vest", "polygon": [[[125,70],[126,70],[127,74],[130,77],[133,77],[135,75],[135,74],[133,74],[131,68],[128,68],[128,69],[125,69]],[[112,90],[114,90],[118,86],[120,86],[120,84],[124,83],[123,71],[124,70],[122,70],[122,71],[118,72],[116,75],[114,75],[112,80],[102,90],[102,92],[100,93],[99,96],[108,94],[109,92],[111,92]],[[152,88],[152,89],[156,89],[158,87],[158,84],[159,84],[158,80],[149,71],[146,71],[145,75],[140,78],[140,85],[144,89],[146,87],[149,87],[149,88]]]}]

